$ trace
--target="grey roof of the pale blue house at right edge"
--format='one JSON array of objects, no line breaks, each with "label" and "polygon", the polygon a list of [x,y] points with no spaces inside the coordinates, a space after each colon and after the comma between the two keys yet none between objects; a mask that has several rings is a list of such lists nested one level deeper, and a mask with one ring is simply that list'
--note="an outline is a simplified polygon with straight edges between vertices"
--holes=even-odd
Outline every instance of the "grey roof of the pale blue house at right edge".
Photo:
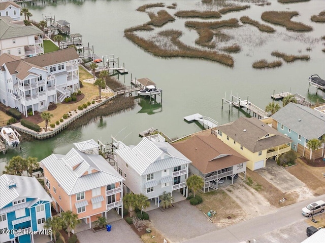
[{"label": "grey roof of the pale blue house at right edge", "polygon": [[271,117],[308,140],[325,134],[325,114],[303,105],[290,102]]}]

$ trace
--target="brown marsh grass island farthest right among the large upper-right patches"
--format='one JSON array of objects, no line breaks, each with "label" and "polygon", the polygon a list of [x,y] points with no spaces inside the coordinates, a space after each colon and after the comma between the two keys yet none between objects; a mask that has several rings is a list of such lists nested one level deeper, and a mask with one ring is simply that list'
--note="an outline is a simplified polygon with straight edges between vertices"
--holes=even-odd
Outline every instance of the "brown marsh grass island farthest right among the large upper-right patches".
[{"label": "brown marsh grass island farthest right among the large upper-right patches", "polygon": [[293,30],[297,32],[311,31],[313,28],[311,26],[305,25],[303,23],[291,21],[291,18],[299,15],[298,12],[281,12],[281,11],[268,11],[264,12],[261,18],[269,23],[282,25],[286,27],[287,30]]}]

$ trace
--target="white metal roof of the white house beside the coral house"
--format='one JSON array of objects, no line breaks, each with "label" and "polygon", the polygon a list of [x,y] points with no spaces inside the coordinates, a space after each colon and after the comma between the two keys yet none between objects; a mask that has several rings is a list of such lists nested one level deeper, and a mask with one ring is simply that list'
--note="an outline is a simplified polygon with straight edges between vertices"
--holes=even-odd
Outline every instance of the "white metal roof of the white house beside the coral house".
[{"label": "white metal roof of the white house beside the coral house", "polygon": [[143,138],[136,146],[123,147],[115,152],[140,176],[172,168],[174,164],[191,163],[168,142],[154,142],[148,138]]}]

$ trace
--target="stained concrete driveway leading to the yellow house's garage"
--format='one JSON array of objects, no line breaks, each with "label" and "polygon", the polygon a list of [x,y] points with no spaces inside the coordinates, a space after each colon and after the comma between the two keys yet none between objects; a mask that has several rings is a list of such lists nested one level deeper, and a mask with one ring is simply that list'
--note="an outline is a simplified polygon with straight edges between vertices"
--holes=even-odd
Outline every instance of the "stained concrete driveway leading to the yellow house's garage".
[{"label": "stained concrete driveway leading to the yellow house's garage", "polygon": [[268,159],[266,167],[256,170],[255,172],[272,183],[283,193],[306,186],[302,181],[278,166],[273,159]]}]

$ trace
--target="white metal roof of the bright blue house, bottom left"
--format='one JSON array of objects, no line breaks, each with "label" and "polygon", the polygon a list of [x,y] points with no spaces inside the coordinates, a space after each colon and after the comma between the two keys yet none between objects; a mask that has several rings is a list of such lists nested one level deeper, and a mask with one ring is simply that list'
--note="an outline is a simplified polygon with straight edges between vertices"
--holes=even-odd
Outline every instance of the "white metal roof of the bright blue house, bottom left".
[{"label": "white metal roof of the bright blue house, bottom left", "polygon": [[[16,186],[9,188],[7,186],[8,182],[14,182]],[[0,191],[0,209],[6,207],[18,197],[52,201],[51,197],[35,177],[4,174],[0,177]]]}]

